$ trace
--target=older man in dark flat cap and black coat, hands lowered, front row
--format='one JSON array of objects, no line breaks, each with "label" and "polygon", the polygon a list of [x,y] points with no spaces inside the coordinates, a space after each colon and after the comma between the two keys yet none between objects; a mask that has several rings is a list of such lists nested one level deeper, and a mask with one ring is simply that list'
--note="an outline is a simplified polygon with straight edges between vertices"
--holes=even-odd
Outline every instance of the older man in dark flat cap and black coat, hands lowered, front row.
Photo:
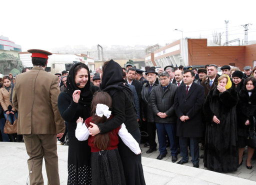
[{"label": "older man in dark flat cap and black coat, hands lowered, front row", "polygon": [[146,151],[146,153],[152,153],[156,150],[156,142],[155,142],[155,122],[154,122],[154,116],[151,106],[151,94],[155,87],[159,85],[159,81],[157,76],[157,72],[155,72],[155,69],[149,68],[147,72],[145,73],[147,76],[147,83],[145,83],[142,87],[141,91],[141,98],[142,98],[142,106],[143,106],[143,112],[142,114],[142,120],[146,122],[146,130],[148,133],[148,143],[149,143],[149,149]]}]

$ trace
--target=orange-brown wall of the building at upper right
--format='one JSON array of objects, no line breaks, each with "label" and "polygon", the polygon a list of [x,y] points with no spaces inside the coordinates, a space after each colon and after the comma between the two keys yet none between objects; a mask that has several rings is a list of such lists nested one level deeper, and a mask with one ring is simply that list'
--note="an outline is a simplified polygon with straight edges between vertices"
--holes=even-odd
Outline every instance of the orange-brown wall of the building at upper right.
[{"label": "orange-brown wall of the building at upper right", "polygon": [[[235,65],[240,69],[247,65],[246,46],[207,46],[207,39],[188,39],[187,44],[189,65]],[[248,52],[252,50],[250,48]],[[256,53],[254,55],[256,56]]]}]

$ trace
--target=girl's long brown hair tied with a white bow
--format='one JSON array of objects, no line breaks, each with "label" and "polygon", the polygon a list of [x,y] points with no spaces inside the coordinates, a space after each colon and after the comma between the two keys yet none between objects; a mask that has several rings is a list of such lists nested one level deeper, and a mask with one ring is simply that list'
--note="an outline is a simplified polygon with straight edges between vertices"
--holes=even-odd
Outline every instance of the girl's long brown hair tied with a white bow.
[{"label": "girl's long brown hair tied with a white bow", "polygon": [[[104,91],[96,92],[92,102],[91,102],[91,113],[92,115],[92,121],[96,123],[102,123],[107,120],[106,116],[99,117],[95,114],[96,112],[96,105],[98,103],[105,104],[108,107],[111,107],[112,105],[112,98],[111,96]],[[106,150],[110,146],[110,138],[109,138],[109,133],[99,133],[94,136],[93,139],[93,145],[100,150]]]}]

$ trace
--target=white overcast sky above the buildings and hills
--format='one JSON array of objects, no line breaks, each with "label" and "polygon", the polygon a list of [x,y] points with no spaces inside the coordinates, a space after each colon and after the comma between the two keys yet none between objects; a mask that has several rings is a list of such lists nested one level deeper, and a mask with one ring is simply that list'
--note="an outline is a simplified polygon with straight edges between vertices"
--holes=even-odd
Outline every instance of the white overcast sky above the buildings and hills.
[{"label": "white overcast sky above the buildings and hills", "polygon": [[2,0],[0,35],[22,51],[65,45],[153,45],[212,39],[229,20],[229,40],[256,40],[255,0]]}]

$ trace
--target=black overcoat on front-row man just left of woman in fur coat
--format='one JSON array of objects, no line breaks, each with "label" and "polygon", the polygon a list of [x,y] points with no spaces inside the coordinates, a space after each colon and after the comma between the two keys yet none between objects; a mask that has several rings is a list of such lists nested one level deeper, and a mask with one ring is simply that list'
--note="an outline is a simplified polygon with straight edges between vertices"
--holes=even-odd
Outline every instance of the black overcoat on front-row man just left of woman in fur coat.
[{"label": "black overcoat on front-row man just left of woman in fur coat", "polygon": [[[204,101],[203,86],[192,82],[186,95],[186,87],[183,83],[177,87],[174,104],[177,115],[177,136],[202,137],[202,105]],[[185,122],[179,117],[187,115]]]}]

